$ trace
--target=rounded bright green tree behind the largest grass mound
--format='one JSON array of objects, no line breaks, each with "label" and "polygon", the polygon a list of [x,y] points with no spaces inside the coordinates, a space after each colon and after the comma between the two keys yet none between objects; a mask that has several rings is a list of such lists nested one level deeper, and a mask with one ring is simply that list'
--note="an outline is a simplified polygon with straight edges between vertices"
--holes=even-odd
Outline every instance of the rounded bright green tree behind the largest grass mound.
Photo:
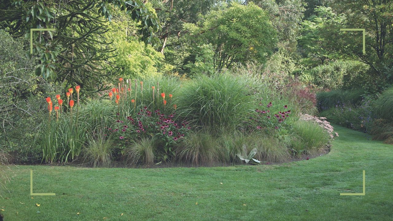
[{"label": "rounded bright green tree behind the largest grass mound", "polygon": [[276,45],[276,31],[266,11],[248,4],[232,3],[229,7],[210,11],[200,22],[186,24],[192,48],[188,62],[195,63],[199,46],[211,45],[213,66],[216,70],[230,68],[235,63],[248,61],[264,63]]}]

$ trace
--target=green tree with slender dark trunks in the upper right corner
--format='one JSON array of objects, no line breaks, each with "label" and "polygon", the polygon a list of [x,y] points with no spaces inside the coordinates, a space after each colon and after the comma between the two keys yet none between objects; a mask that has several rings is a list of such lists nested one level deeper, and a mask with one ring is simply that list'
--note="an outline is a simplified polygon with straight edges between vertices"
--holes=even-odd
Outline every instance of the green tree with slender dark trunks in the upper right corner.
[{"label": "green tree with slender dark trunks in the upper right corner", "polygon": [[347,22],[343,28],[364,28],[366,31],[365,54],[360,31],[341,34],[338,44],[331,39],[332,49],[369,65],[381,87],[383,83],[392,83],[393,0],[334,0],[331,7],[345,15]]}]

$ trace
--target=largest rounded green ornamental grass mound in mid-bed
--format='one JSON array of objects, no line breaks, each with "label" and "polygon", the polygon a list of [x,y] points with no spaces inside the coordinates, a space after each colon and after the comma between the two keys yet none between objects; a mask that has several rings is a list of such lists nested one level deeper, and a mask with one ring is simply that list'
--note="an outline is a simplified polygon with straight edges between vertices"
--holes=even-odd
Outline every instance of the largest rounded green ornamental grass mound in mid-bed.
[{"label": "largest rounded green ornamental grass mound in mid-bed", "polygon": [[178,114],[204,127],[235,128],[253,109],[250,81],[230,74],[197,76],[182,85]]}]

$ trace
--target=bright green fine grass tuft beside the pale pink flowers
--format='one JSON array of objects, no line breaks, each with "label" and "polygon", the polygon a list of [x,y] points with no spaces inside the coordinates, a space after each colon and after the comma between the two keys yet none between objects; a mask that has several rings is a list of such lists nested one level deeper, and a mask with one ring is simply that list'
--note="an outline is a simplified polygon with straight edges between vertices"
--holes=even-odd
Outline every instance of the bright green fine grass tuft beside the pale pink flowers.
[{"label": "bright green fine grass tuft beside the pale pink flowers", "polygon": [[301,142],[294,142],[294,149],[304,153],[314,153],[324,147],[329,141],[329,134],[318,124],[299,120],[293,124],[293,132]]}]

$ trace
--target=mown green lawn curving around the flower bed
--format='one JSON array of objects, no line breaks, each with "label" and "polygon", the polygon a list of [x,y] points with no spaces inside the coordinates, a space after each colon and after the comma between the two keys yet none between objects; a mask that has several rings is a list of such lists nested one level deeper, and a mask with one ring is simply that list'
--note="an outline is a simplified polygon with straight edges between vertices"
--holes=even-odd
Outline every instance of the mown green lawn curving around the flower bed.
[{"label": "mown green lawn curving around the flower bed", "polygon": [[[393,220],[393,146],[336,131],[329,154],[282,165],[14,167],[0,209],[5,221]],[[30,169],[33,192],[56,196],[31,199]],[[362,192],[363,170],[365,195],[340,196]]]}]

